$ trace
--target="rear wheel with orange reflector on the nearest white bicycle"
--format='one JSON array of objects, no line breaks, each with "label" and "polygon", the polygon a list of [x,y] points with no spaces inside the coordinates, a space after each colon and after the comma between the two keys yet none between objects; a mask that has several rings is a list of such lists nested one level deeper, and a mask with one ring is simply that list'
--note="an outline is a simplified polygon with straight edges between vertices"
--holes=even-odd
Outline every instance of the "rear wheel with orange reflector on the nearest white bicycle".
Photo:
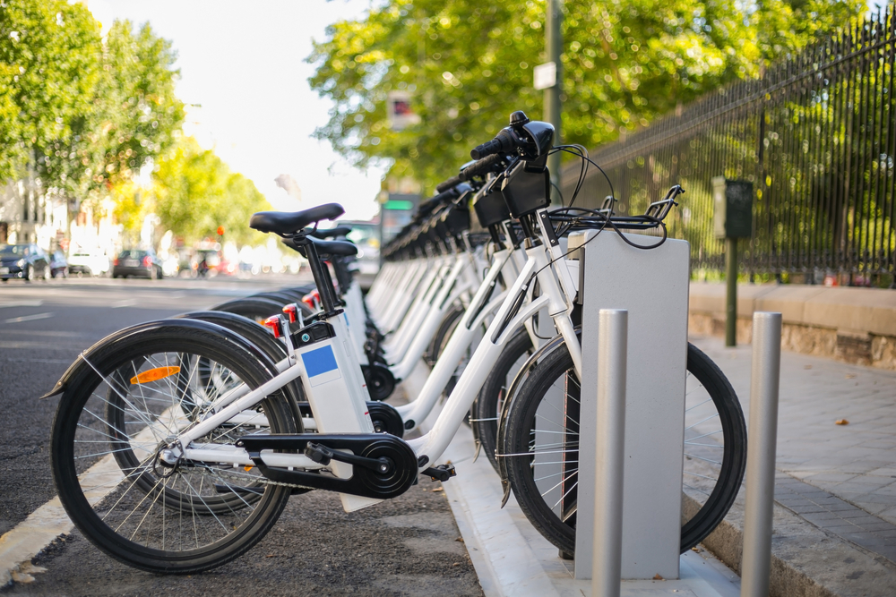
[{"label": "rear wheel with orange reflector on the nearest white bicycle", "polygon": [[[207,359],[256,388],[271,379],[270,366],[211,331],[177,324],[139,329],[88,354],[90,366],[74,371],[65,386],[51,439],[56,490],[74,525],[109,556],[168,574],[218,567],[259,542],[286,506],[289,488],[253,490],[263,482],[257,469],[160,466],[153,455],[182,417],[185,388],[176,371],[158,379],[144,374],[158,373],[162,363]],[[135,374],[125,386],[126,369]],[[279,393],[265,398],[260,412],[271,432],[295,430]],[[183,430],[193,423],[181,424]],[[255,431],[250,427],[215,430],[202,442],[228,444]]]}]

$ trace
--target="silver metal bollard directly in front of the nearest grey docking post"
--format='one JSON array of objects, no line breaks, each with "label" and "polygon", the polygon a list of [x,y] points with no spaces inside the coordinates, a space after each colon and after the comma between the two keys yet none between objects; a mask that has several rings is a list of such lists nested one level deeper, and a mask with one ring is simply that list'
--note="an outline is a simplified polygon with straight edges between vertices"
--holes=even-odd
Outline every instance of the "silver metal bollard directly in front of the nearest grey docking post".
[{"label": "silver metal bollard directly in front of the nearest grey docking post", "polygon": [[591,594],[619,597],[628,311],[601,309],[598,334],[598,450],[594,477]]}]

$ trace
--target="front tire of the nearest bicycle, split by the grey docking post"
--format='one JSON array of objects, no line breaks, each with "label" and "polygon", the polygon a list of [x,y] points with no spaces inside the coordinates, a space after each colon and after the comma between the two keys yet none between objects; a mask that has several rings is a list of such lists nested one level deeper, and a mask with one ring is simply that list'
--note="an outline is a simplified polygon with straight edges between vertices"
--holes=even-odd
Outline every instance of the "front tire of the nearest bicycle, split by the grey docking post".
[{"label": "front tire of the nearest bicycle, split by the grey docking post", "polygon": [[[692,474],[688,469],[689,461],[694,461],[694,458],[710,461],[699,454],[695,454],[694,449],[707,445],[703,443],[706,441],[712,440],[718,443],[711,436],[718,436],[719,433],[722,434],[723,444],[720,446],[708,446],[709,449],[721,449],[723,456],[718,461],[714,461],[719,463],[719,471],[716,479],[711,481],[713,485],[711,491],[705,490],[709,489],[708,487],[703,488],[703,493],[707,495],[707,498],[696,512],[692,512],[692,516],[688,520],[683,521],[680,542],[682,553],[701,542],[728,514],[728,509],[737,497],[737,491],[740,489],[740,484],[743,481],[746,466],[746,425],[744,414],[737,400],[737,395],[734,389],[731,388],[731,384],[719,370],[719,367],[690,343],[687,347],[687,371],[689,376],[693,378],[693,380],[689,380],[692,387],[703,388],[710,398],[710,400],[700,402],[701,397],[694,397],[694,404],[706,407],[711,401],[712,407],[718,415],[721,429],[719,431],[705,432],[704,428],[701,430],[699,437],[694,437],[691,434],[690,439],[688,434],[685,434],[684,476],[687,477],[689,474]],[[503,454],[519,455],[530,453],[535,455],[537,453],[537,449],[531,449],[533,441],[535,444],[538,442],[537,439],[533,440],[535,434],[532,432],[535,429],[535,417],[538,414],[543,420],[546,416],[545,413],[547,411],[538,413],[538,408],[541,406],[547,391],[555,387],[556,382],[561,380],[561,378],[564,384],[564,391],[567,392],[566,396],[573,396],[573,399],[575,399],[574,393],[577,388],[577,380],[573,371],[572,358],[564,344],[557,345],[550,353],[543,356],[542,360],[530,371],[528,378],[523,381],[518,395],[513,398],[513,404],[510,406],[507,415],[504,444],[502,445]],[[690,391],[688,392],[689,395],[691,393]],[[688,399],[690,400],[690,397]],[[695,407],[692,406],[691,408]],[[688,408],[685,408],[685,411],[687,410]],[[699,416],[702,417],[703,415]],[[711,421],[713,418],[715,417],[710,417],[708,421]],[[539,422],[539,424],[544,423]],[[685,427],[688,426],[685,425]],[[693,425],[688,427],[688,429],[692,428],[694,428]],[[578,458],[577,440],[569,439],[568,436],[570,434],[567,433],[569,430],[565,427],[565,422],[560,423],[559,429],[563,433],[564,439],[561,440],[562,443],[557,442],[556,445],[562,445],[562,449],[557,451],[556,445],[552,446],[551,448],[554,449],[554,452],[552,452],[551,458],[554,460],[545,463],[546,465],[554,465],[555,469],[556,465],[565,465],[573,462],[573,459],[566,459],[567,452],[576,453],[576,463]],[[707,437],[710,439],[706,439]],[[556,441],[556,436],[552,436],[551,439]],[[694,439],[702,439],[702,441],[697,442]],[[558,453],[563,453],[564,456],[553,456]],[[521,510],[529,518],[532,525],[560,550],[573,554],[575,552],[575,502],[572,490],[575,482],[572,482],[568,487],[562,483],[569,482],[573,478],[577,471],[577,464],[574,468],[561,469],[560,473],[555,473],[560,476],[559,482],[548,490],[544,490],[547,483],[544,483],[540,489],[538,487],[538,482],[544,481],[545,478],[536,476],[540,474],[536,472],[538,468],[537,458],[537,455],[535,457],[507,456],[504,458],[506,460],[504,465],[508,480],[513,488],[513,494],[516,496]],[[708,478],[708,475],[702,476]],[[550,480],[550,482],[554,481],[556,479]],[[689,482],[683,480],[683,491],[686,487],[692,486]],[[557,489],[565,501],[561,503],[562,500],[558,500],[552,506],[548,501],[554,499],[557,494],[555,493],[547,500],[543,498],[543,494],[550,494],[550,491]]]}]

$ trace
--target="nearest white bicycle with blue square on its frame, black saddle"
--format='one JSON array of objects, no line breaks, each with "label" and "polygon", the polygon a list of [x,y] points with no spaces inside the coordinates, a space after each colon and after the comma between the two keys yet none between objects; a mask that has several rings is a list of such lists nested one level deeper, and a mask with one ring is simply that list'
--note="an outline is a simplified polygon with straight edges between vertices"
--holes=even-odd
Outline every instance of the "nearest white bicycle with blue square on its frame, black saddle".
[{"label": "nearest white bicycle with blue square on its frame, black saddle", "polygon": [[[293,492],[337,491],[343,507],[352,511],[401,495],[419,473],[447,481],[453,467],[435,463],[504,349],[547,309],[557,336],[533,355],[504,400],[502,451],[496,456],[506,463],[508,480],[533,524],[572,552],[577,423],[570,408],[562,419],[551,419],[550,429],[540,423],[550,419],[548,407],[556,409],[545,397],[557,384],[564,388],[564,404],[577,404],[583,366],[573,323],[576,282],[552,222],[567,229],[612,222],[593,213],[547,212],[545,163],[553,129],[520,115],[514,113],[495,154],[480,158],[477,167],[487,164],[500,173],[479,197],[506,201],[509,215],[521,224],[526,260],[503,296],[489,303],[488,283],[470,299],[458,328],[489,322],[431,431],[408,441],[374,432],[352,336],[318,254],[340,247],[306,234],[306,226],[338,217],[341,208],[256,214],[251,226],[289,236],[305,250],[321,298],[322,312],[309,325],[290,333],[282,321],[288,354],[283,362],[209,321],[155,321],[92,346],[48,394],[62,394],[51,447],[56,487],[90,542],[130,566],[193,573],[237,558],[260,541]],[[620,224],[658,226],[678,192],[673,188],[647,217]],[[509,260],[510,253],[502,259]],[[493,303],[494,309],[483,315],[487,308],[482,305]],[[445,362],[466,349],[463,336],[452,335]],[[698,369],[712,369],[705,356],[695,358],[700,361],[695,375]],[[455,364],[444,370],[453,371]],[[688,367],[691,371],[690,353]],[[692,429],[699,433],[685,439],[703,450],[696,456],[709,467],[708,474],[697,473],[707,483],[694,485],[709,497],[687,517],[685,527],[696,521],[694,528],[707,533],[707,525],[718,522],[719,512],[724,516],[737,493],[745,454],[737,397],[724,377],[713,377],[717,369],[710,373],[697,377],[709,393],[699,407],[714,406],[718,412],[707,420],[720,421],[721,429],[695,422]],[[434,370],[434,377],[444,375]],[[310,416],[297,415],[290,404],[296,398],[284,388],[295,380],[300,380]],[[438,395],[426,391],[411,403],[413,414],[405,414],[406,421],[418,416],[417,409],[431,408]],[[316,433],[306,432],[306,422],[313,422]],[[545,431],[551,434],[547,439]],[[539,467],[555,461],[563,465],[559,481],[540,478]]]}]

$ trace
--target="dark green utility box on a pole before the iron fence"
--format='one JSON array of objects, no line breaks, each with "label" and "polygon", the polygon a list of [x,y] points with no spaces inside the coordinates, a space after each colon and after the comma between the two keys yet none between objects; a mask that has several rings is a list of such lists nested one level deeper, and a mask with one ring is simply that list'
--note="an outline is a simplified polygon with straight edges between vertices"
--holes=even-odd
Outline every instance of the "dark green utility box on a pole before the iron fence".
[{"label": "dark green utility box on a pole before the iron fence", "polygon": [[725,345],[737,345],[737,239],[753,236],[753,183],[712,179],[713,228],[725,239]]}]

